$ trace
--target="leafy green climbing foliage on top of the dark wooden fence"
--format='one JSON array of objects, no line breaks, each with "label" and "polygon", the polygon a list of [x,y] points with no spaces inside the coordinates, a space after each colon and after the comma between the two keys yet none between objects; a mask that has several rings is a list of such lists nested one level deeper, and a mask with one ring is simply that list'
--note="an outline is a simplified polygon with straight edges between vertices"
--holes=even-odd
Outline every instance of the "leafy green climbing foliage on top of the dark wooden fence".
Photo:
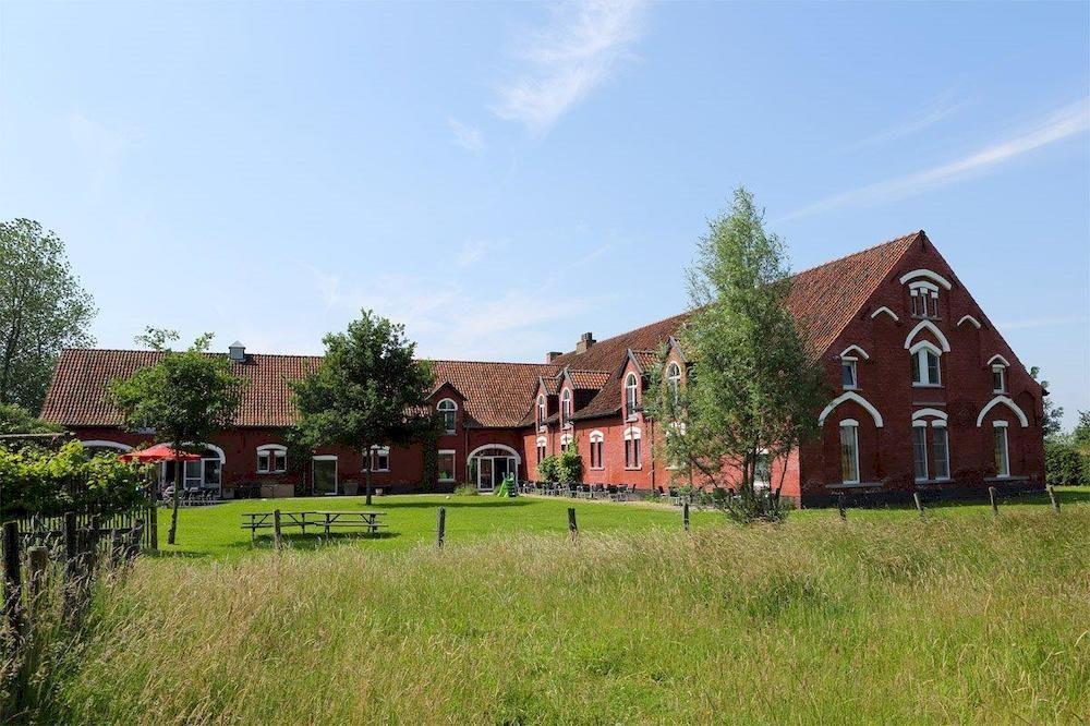
[{"label": "leafy green climbing foliage on top of the dark wooden fence", "polygon": [[0,519],[9,519],[126,511],[144,500],[146,475],[113,453],[89,457],[78,441],[69,441],[57,451],[0,448]]}]

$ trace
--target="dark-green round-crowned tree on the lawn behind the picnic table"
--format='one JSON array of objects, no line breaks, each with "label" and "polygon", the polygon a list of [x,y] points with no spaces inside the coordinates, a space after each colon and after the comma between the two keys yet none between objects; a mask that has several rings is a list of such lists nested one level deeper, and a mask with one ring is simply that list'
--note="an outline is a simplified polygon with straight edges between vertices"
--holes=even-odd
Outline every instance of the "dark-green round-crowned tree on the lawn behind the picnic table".
[{"label": "dark-green round-crowned tree on the lawn behind the picnic table", "polygon": [[[296,428],[308,446],[362,448],[367,456],[373,446],[417,440],[435,425],[426,406],[432,367],[413,358],[416,343],[403,325],[365,310],[346,332],[331,332],[323,342],[322,363],[292,384]],[[366,492],[370,505],[370,465]]]}]

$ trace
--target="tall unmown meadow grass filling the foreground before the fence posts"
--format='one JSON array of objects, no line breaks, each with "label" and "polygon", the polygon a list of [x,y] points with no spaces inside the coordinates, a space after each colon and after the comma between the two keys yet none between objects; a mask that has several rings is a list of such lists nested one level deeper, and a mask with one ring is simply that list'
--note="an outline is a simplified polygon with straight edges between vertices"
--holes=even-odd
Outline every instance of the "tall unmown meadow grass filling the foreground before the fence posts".
[{"label": "tall unmown meadow grass filling the foreground before the fence posts", "polygon": [[1086,719],[1090,507],[877,515],[145,559],[33,717]]}]

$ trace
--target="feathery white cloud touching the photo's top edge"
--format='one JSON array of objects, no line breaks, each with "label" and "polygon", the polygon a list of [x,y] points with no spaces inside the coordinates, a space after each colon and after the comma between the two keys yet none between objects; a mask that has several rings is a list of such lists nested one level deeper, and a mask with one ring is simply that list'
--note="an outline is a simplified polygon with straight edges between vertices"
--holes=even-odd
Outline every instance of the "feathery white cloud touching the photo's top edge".
[{"label": "feathery white cloud touching the photo's top edge", "polygon": [[643,0],[589,0],[560,5],[553,22],[520,45],[526,68],[499,88],[493,112],[545,133],[608,81],[643,33]]}]

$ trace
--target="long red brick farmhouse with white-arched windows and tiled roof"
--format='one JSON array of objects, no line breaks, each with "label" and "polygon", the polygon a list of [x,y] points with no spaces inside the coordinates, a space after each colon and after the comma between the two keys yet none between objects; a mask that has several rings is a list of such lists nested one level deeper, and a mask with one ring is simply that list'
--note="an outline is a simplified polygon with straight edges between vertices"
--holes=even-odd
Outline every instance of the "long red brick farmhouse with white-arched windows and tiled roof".
[{"label": "long red brick farmhouse with white-arched windows and tiled roof", "polygon": [[[1040,486],[1043,396],[1026,367],[922,232],[795,276],[788,306],[813,359],[826,371],[822,435],[791,457],[783,495],[820,504],[844,491],[980,493]],[[674,336],[686,315],[595,341],[584,334],[547,361],[435,361],[431,404],[447,422],[437,444],[439,482],[489,491],[507,473],[534,479],[543,456],[574,445],[585,482],[666,487],[673,471],[662,433],[642,411],[649,366],[669,347],[664,372],[683,385],[685,351]],[[43,418],[88,446],[123,449],[149,440],[126,433],[105,401],[107,383],[156,360],[149,351],[65,350]],[[229,353],[250,385],[234,426],[187,464],[190,486],[221,489],[276,481],[315,493],[351,492],[362,451],[329,449],[288,462],[288,382],[318,359]],[[656,446],[656,443],[658,446]],[[373,451],[373,481],[387,491],[421,488],[420,445]],[[291,465],[294,464],[294,465]]]}]

